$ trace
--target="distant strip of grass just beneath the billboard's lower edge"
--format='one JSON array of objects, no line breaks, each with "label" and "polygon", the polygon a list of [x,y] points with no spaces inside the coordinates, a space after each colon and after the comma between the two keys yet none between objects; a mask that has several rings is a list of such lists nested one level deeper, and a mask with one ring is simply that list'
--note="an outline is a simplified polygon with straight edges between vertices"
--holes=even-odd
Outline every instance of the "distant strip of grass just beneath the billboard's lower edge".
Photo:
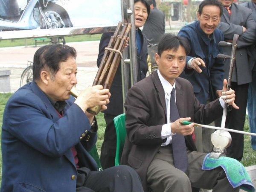
[{"label": "distant strip of grass just beneath the billboard's lower edge", "polygon": [[[100,40],[102,34],[95,34],[95,35],[76,35],[76,36],[70,36],[65,37],[65,41],[68,42],[81,42],[81,41],[98,41]],[[35,46],[35,40],[27,39],[27,45],[34,45]],[[49,44],[49,39],[43,41],[38,41],[37,44]],[[15,40],[1,40],[0,41],[0,47],[16,47],[16,46],[25,46],[25,39],[15,39]]]}]

